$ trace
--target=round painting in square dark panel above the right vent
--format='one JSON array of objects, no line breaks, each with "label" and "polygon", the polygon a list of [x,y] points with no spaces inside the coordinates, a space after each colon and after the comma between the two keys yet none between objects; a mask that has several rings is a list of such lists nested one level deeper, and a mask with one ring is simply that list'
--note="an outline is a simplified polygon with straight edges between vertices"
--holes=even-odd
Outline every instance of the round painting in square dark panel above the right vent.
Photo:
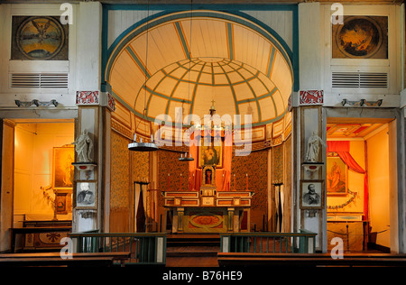
[{"label": "round painting in square dark panel above the right vent", "polygon": [[388,58],[388,17],[347,15],[332,29],[333,58]]}]

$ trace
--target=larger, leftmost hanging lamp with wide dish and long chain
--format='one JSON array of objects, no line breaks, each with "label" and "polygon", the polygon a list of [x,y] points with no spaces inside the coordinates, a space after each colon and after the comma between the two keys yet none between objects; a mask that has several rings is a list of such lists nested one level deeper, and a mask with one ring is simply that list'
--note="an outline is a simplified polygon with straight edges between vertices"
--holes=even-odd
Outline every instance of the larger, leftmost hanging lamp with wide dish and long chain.
[{"label": "larger, leftmost hanging lamp with wide dish and long chain", "polygon": [[[150,6],[148,5],[147,8],[148,14],[147,14],[147,19],[149,19],[150,16]],[[147,69],[148,66],[148,30],[149,30],[149,23],[147,22],[147,29],[146,29],[146,49],[145,49],[145,69]],[[145,73],[145,82],[144,82],[144,100],[143,100],[143,118],[142,120],[146,120],[146,81],[147,81],[147,75]],[[133,151],[133,152],[155,152],[158,150],[158,146],[153,142],[153,135],[151,134],[151,142],[143,142],[143,137],[140,138],[140,142],[137,142],[137,128],[138,125],[141,123],[141,121],[138,122],[137,126],[135,127],[135,132],[134,132],[134,142],[131,142],[128,144],[128,150]],[[145,127],[146,131],[146,127]]]}]

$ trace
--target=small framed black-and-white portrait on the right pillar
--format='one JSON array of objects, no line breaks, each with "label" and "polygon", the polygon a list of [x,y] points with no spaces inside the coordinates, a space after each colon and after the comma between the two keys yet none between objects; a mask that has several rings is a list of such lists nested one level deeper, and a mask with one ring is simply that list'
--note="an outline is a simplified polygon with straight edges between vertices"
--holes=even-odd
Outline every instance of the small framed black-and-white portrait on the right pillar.
[{"label": "small framed black-and-white portrait on the right pillar", "polygon": [[300,208],[321,209],[324,203],[324,180],[300,181]]}]

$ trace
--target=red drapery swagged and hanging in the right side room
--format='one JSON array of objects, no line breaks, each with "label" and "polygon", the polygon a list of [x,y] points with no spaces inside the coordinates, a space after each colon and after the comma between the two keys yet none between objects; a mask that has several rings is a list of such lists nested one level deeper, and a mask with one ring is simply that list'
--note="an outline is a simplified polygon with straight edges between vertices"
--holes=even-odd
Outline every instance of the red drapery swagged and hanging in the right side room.
[{"label": "red drapery swagged and hanging in the right side room", "polygon": [[350,170],[364,174],[364,217],[368,219],[368,173],[354,160],[349,149],[348,141],[328,141],[328,152],[337,152]]}]

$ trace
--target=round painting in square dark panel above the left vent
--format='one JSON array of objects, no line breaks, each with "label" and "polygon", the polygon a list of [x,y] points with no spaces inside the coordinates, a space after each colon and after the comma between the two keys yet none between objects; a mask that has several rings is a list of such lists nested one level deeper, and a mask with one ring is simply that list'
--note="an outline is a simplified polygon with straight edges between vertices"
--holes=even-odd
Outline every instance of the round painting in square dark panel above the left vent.
[{"label": "round painting in square dark panel above the left vent", "polygon": [[69,60],[69,24],[60,16],[14,16],[11,60]]}]

